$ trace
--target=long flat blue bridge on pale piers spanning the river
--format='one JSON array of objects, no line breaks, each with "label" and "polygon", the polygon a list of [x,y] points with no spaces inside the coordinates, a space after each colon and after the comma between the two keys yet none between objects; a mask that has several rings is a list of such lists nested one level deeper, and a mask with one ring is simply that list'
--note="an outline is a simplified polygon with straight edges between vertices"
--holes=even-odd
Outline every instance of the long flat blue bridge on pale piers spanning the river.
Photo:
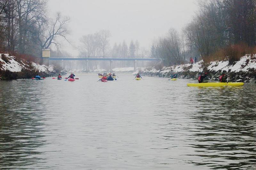
[{"label": "long flat blue bridge on pale piers spanning the river", "polygon": [[[134,61],[134,70],[137,68],[137,61],[160,61],[160,59],[157,58],[142,58],[142,57],[133,57],[133,58],[113,58],[110,56],[58,56],[58,57],[49,57],[48,60],[85,60],[86,61],[86,69],[88,68],[88,62],[90,60],[92,61],[110,61],[110,70],[112,70],[112,62],[113,61]],[[49,62],[49,61],[48,61]]]}]

